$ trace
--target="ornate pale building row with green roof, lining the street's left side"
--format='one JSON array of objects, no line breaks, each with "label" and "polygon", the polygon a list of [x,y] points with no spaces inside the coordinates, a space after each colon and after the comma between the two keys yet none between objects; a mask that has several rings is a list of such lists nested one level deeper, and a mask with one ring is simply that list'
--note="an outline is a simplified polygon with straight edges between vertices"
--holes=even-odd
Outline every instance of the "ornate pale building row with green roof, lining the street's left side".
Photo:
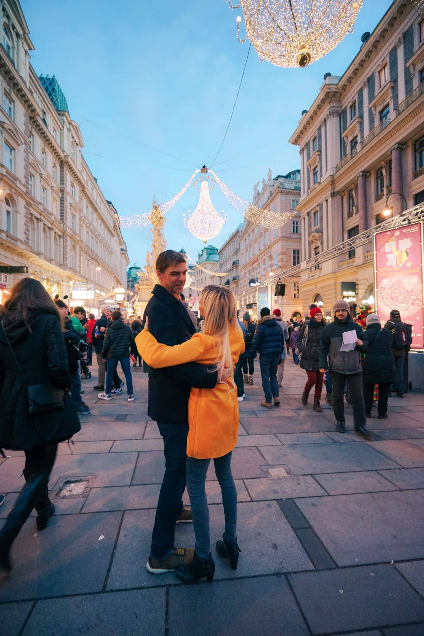
[{"label": "ornate pale building row with green roof, lining the street's left side", "polygon": [[[55,76],[38,77],[30,64],[34,46],[17,1],[2,3],[1,22],[0,263],[27,266],[52,296],[88,300],[94,310],[126,284],[119,217],[81,154]],[[20,275],[0,276],[4,301]]]}]

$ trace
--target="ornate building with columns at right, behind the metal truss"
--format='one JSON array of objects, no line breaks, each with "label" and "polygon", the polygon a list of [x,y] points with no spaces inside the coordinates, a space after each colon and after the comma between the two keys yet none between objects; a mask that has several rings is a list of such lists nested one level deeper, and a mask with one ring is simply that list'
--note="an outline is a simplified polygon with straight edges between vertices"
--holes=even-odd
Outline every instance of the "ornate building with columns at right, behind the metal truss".
[{"label": "ornate building with columns at right, behind the metal truss", "polygon": [[[343,76],[325,74],[290,139],[301,156],[301,261],[424,201],[424,16],[395,0],[359,45]],[[301,268],[303,310],[319,302],[330,316],[343,293],[352,313],[373,305],[373,270],[372,242]]]}]

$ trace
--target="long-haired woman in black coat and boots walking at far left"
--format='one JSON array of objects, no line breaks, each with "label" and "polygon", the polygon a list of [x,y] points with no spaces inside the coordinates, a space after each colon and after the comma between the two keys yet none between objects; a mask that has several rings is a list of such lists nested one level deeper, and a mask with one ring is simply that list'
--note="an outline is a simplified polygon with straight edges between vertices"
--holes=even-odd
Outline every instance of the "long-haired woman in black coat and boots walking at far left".
[{"label": "long-haired woman in black coat and boots walking at far left", "polygon": [[[26,483],[0,530],[0,572],[11,570],[11,545],[32,509],[38,530],[55,511],[48,480],[57,445],[81,428],[70,387],[57,307],[38,280],[22,279],[0,322],[0,448],[25,452]],[[35,406],[38,412],[30,413]]]}]

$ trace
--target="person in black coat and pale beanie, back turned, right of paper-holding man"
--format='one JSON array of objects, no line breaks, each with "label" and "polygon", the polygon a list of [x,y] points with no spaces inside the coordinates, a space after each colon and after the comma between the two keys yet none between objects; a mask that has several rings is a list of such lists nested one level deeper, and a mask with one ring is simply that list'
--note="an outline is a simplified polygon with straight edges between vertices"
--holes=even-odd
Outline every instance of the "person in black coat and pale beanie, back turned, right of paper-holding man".
[{"label": "person in black coat and pale beanie, back turned, right of paper-holding man", "polygon": [[362,366],[364,383],[365,412],[371,416],[374,385],[378,384],[378,418],[387,417],[387,403],[390,384],[396,381],[395,359],[392,353],[392,333],[382,329],[378,315],[367,315],[368,347]]}]

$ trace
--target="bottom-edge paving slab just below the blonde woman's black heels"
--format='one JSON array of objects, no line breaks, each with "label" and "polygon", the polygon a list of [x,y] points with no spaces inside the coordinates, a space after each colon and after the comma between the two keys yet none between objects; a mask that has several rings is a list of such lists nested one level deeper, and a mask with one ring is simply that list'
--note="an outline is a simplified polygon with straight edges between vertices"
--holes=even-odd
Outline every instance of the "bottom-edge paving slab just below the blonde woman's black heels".
[{"label": "bottom-edge paving slab just below the blonde woman's black heels", "polygon": [[[235,602],[236,599],[236,602]],[[189,625],[188,625],[189,621]],[[168,635],[306,636],[309,630],[282,576],[170,588]]]}]

